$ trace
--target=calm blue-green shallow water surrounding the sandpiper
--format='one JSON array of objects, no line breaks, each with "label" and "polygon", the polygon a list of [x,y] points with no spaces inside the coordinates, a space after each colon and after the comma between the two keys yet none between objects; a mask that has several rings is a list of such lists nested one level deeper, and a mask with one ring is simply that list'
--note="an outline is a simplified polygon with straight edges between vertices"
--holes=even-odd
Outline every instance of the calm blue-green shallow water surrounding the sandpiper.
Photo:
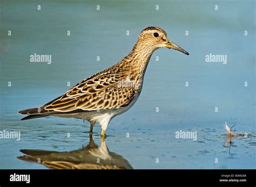
[{"label": "calm blue-green shallow water surrounding the sandpiper", "polygon": [[[39,3],[41,11],[36,10]],[[256,168],[254,1],[219,1],[218,11],[216,3],[207,1],[99,1],[99,11],[93,1],[39,3],[1,1],[0,130],[21,131],[21,140],[0,139],[0,168],[46,169],[18,160],[21,149],[86,146],[88,123],[58,117],[20,121],[17,111],[41,106],[69,89],[68,81],[75,85],[115,64],[151,25],[163,27],[190,56],[168,49],[154,52],[140,98],[106,131],[109,151],[134,169]],[[51,54],[52,64],[30,63],[33,53]],[[226,54],[227,64],[206,63],[210,53]],[[225,121],[251,135],[235,137],[226,147]],[[93,134],[99,146],[100,130],[96,125]],[[176,138],[179,130],[196,131],[197,140]]]}]

